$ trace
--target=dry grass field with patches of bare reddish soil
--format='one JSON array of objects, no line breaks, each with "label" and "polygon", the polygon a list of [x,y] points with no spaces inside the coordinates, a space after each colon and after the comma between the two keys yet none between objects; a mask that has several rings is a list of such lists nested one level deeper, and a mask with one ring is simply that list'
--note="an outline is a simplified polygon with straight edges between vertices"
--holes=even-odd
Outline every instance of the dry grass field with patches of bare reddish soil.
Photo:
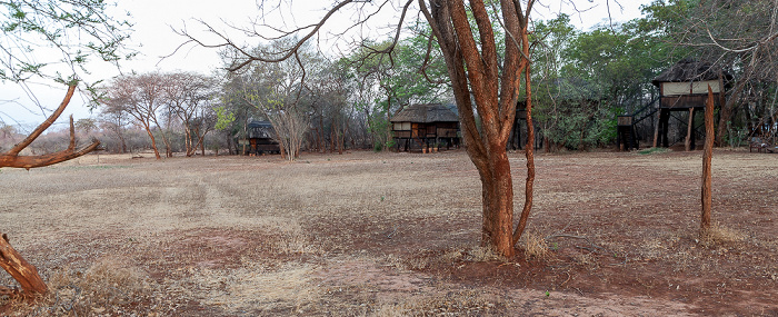
[{"label": "dry grass field with patches of bare reddish soil", "polygon": [[0,315],[778,316],[778,155],[715,151],[704,236],[700,151],[536,161],[510,259],[479,247],[461,150],[2,169],[0,231],[51,293]]}]

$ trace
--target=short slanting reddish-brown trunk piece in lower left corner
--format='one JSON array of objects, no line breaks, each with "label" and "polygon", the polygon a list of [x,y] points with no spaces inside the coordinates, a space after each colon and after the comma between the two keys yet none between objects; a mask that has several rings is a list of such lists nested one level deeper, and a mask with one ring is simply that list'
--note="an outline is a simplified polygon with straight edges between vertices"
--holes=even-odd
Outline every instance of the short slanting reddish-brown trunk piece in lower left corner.
[{"label": "short slanting reddish-brown trunk piece in lower left corner", "polygon": [[0,238],[0,267],[19,283],[23,296],[42,295],[49,291],[36,267],[11,247],[4,234]]}]

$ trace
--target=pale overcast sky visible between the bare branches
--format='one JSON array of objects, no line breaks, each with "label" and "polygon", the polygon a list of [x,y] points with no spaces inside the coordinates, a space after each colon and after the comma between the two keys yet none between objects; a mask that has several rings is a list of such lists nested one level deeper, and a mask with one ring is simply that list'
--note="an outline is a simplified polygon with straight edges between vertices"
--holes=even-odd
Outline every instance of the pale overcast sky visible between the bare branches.
[{"label": "pale overcast sky visible between the bare branches", "polygon": [[[221,67],[221,61],[218,56],[218,50],[202,48],[193,44],[186,44],[186,38],[173,32],[173,28],[181,30],[186,28],[189,32],[196,34],[206,41],[213,42],[215,39],[209,37],[202,24],[194,19],[202,19],[215,26],[220,31],[231,33],[237,39],[246,39],[239,32],[231,29],[233,26],[249,26],[252,19],[259,17],[257,1],[250,0],[221,0],[218,4],[213,1],[193,1],[193,0],[131,0],[118,1],[117,8],[112,8],[111,12],[118,18],[128,18],[134,23],[133,32],[129,46],[139,52],[139,56],[130,61],[123,61],[120,68],[117,69],[106,63],[93,63],[88,66],[91,70],[91,78],[86,80],[110,79],[120,73],[131,72],[150,72],[150,71],[196,71],[210,75],[215,69]],[[391,2],[398,2],[392,0]],[[523,2],[523,1],[522,1]],[[571,16],[571,22],[580,30],[591,29],[596,24],[609,23],[608,12],[614,22],[628,21],[640,17],[639,7],[647,4],[650,0],[575,0],[577,6],[570,6],[570,1],[551,1],[540,0],[535,7],[530,16],[535,20],[550,20],[556,18],[559,12],[566,12]],[[323,2],[319,0],[295,0],[292,8],[282,7],[273,11],[272,16],[277,17],[269,21],[275,27],[291,27],[308,24],[317,20],[325,12]],[[369,10],[373,10],[380,3],[379,1],[365,2],[365,14]],[[551,4],[553,3],[553,4]],[[567,3],[567,4],[566,4]],[[392,3],[395,4],[395,3]],[[385,7],[382,13],[371,18],[371,23],[362,27],[350,29],[346,38],[338,40],[328,40],[332,38],[332,33],[340,33],[347,30],[355,19],[358,19],[360,12],[347,11],[335,16],[329,29],[326,29],[317,40],[323,51],[331,55],[338,55],[348,49],[346,44],[350,39],[357,39],[360,36],[370,36],[372,38],[387,38],[391,32],[391,23],[397,21],[399,8],[392,8],[391,4]],[[408,19],[416,19],[418,10]],[[126,17],[127,12],[131,16]],[[293,12],[293,14],[291,13]],[[283,17],[279,19],[278,17]],[[64,96],[64,87],[56,87],[51,85],[32,85],[36,97],[49,109],[54,109]],[[0,101],[16,100],[16,102],[0,102],[0,119],[9,125],[21,125],[22,130],[31,130],[36,125],[44,120],[44,116],[37,106],[31,106],[28,97],[18,87],[10,85],[0,85]],[[14,105],[24,103],[29,110]],[[87,108],[87,100],[83,97],[77,96],[68,106],[66,112],[60,117],[54,129],[58,126],[67,123],[67,118],[73,115],[76,120],[80,118],[96,117],[96,112],[90,112]],[[32,110],[32,111],[30,111]],[[50,112],[50,111],[49,111]],[[49,113],[47,112],[47,115]]]}]

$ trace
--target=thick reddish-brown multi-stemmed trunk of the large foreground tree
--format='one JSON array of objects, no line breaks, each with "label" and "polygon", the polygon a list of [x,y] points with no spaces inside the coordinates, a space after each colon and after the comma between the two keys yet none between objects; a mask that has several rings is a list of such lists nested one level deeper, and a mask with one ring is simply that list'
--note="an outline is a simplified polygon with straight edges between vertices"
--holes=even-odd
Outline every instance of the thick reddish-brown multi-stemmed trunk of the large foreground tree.
[{"label": "thick reddish-brown multi-stemmed trunk of the large foreground tree", "polygon": [[[482,244],[506,257],[513,256],[513,241],[518,239],[512,232],[513,185],[506,147],[516,118],[521,75],[529,66],[527,26],[532,2],[528,2],[526,13],[520,1],[500,2],[500,26],[507,33],[500,67],[493,26],[482,1],[470,1],[469,9],[461,1],[430,1],[429,8],[419,1],[446,60],[466,150],[481,178]],[[479,32],[478,40],[473,30]],[[529,87],[525,88],[529,98]]]}]

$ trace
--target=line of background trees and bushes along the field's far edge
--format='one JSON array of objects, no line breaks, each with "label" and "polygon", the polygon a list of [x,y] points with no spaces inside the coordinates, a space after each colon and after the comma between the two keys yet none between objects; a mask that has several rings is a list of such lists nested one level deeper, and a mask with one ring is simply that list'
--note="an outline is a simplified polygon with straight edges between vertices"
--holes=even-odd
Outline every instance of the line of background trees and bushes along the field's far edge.
[{"label": "line of background trees and bushes along the field's far edge", "polygon": [[[776,36],[769,31],[775,4],[714,2],[657,0],[642,8],[641,18],[588,31],[577,30],[571,23],[576,17],[567,14],[535,22],[529,40],[540,145],[547,151],[611,146],[616,116],[656,98],[651,79],[688,57],[712,61],[736,78],[717,112],[717,145],[775,139],[778,89],[770,61]],[[429,23],[416,21],[409,34],[397,42],[365,40],[345,57],[305,43],[292,59],[255,62],[237,72],[119,77],[102,87],[98,118],[84,119],[79,130],[99,135],[111,152],[146,148],[159,157],[206,149],[238,153],[237,141],[247,137],[251,120],[271,121],[292,158],[301,150],[386,149],[393,145],[389,118],[403,107],[455,102]],[[272,51],[286,41],[253,50]],[[237,53],[222,51],[226,69]],[[148,138],[139,138],[140,132]]]}]

